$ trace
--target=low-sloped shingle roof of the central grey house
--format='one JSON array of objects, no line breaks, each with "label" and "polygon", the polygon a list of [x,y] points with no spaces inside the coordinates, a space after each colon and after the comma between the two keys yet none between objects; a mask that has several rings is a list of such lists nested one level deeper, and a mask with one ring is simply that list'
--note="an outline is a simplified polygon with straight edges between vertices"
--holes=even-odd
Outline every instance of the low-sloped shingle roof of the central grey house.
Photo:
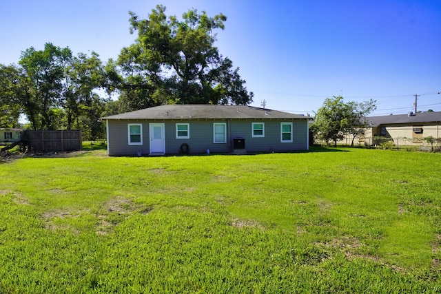
[{"label": "low-sloped shingle roof of the central grey house", "polygon": [[198,119],[198,118],[300,118],[302,114],[289,114],[277,110],[263,109],[245,105],[161,105],[156,107],[125,112],[101,119]]}]

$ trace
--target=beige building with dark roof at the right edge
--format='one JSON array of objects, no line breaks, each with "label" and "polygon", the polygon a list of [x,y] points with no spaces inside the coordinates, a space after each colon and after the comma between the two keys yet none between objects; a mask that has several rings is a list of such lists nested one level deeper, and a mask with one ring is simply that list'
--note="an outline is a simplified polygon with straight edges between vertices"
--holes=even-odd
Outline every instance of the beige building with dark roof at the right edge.
[{"label": "beige building with dark roof at the right edge", "polygon": [[[368,127],[354,144],[374,145],[373,137],[392,138],[399,145],[421,145],[423,138],[440,138],[441,112],[367,117]],[[349,140],[345,139],[346,141]],[[341,141],[340,141],[341,142]],[[351,140],[349,140],[350,144]],[[342,142],[344,143],[344,142]]]}]

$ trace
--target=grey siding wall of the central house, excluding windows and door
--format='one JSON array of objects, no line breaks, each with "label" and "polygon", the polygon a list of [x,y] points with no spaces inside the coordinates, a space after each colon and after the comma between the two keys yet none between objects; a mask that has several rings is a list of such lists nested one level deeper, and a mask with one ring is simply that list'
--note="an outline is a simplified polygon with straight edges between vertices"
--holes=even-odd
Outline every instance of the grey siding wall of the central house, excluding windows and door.
[{"label": "grey siding wall of the central house, excluding windows and door", "polygon": [[[265,136],[253,138],[252,123],[265,123]],[[280,143],[280,123],[291,122],[292,143]],[[142,124],[142,145],[128,144],[127,124]],[[107,153],[110,156],[136,156],[150,153],[150,123],[164,123],[165,154],[180,154],[186,143],[189,154],[203,154],[209,149],[212,154],[229,153],[233,149],[233,138],[245,138],[245,149],[256,151],[296,151],[308,149],[308,126],[304,119],[201,119],[201,120],[107,120]],[[189,138],[176,138],[176,123],[189,124]],[[214,123],[225,123],[227,142],[214,143]]]}]

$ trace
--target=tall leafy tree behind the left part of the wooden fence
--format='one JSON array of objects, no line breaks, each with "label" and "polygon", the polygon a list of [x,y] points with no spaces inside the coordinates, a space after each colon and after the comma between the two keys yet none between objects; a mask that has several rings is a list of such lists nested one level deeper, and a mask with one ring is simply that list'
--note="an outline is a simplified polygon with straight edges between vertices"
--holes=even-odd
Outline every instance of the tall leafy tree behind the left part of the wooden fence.
[{"label": "tall leafy tree behind the left part of the wooden fence", "polygon": [[44,50],[28,48],[19,61],[32,90],[23,97],[23,110],[34,129],[52,129],[54,109],[63,105],[62,92],[66,64],[72,59],[69,48],[45,43]]}]

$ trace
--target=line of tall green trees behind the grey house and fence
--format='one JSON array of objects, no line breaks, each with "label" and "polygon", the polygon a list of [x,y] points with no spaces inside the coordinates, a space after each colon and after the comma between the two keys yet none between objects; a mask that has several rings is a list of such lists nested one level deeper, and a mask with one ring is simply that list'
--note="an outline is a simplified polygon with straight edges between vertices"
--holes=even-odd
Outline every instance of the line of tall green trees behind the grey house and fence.
[{"label": "line of tall green trees behind the grey house and fence", "polygon": [[252,103],[238,68],[214,46],[214,30],[226,20],[195,9],[178,20],[164,6],[147,19],[130,12],[136,40],[105,64],[96,52],[28,48],[18,64],[0,64],[0,127],[19,127],[24,116],[29,128],[82,129],[94,140],[105,134],[101,116],[163,104]]}]

